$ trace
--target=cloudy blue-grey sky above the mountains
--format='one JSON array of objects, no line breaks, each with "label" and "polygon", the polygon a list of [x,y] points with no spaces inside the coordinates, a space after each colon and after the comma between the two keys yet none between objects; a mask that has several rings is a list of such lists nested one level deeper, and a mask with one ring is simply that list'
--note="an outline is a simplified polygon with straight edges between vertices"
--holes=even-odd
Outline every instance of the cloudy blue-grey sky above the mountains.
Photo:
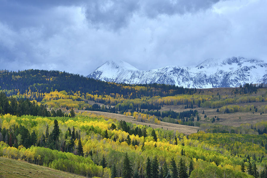
[{"label": "cloudy blue-grey sky above the mountains", "polygon": [[0,1],[0,69],[88,75],[108,60],[140,70],[267,62],[266,0]]}]

